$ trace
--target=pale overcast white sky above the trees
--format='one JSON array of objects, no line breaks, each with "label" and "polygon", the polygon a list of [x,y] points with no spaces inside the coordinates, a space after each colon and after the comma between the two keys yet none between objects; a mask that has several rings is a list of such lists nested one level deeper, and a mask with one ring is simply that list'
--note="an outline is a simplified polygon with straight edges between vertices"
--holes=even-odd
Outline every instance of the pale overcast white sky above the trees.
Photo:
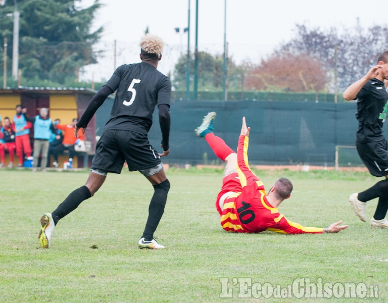
[{"label": "pale overcast white sky above the trees", "polygon": [[[171,54],[164,54],[159,69],[167,73],[180,52],[187,50],[188,0],[100,0],[103,7],[98,11],[92,29],[105,28],[102,41],[107,49],[106,58],[99,68],[91,68],[94,74],[108,77],[113,72],[111,61],[114,52],[111,42],[117,42],[116,66],[138,62],[138,42],[147,27],[162,37]],[[89,6],[92,0],[82,0]],[[198,48],[212,54],[222,54],[224,45],[225,0],[199,0]],[[294,35],[296,24],[309,28],[329,29],[354,27],[359,18],[364,28],[385,25],[383,11],[366,9],[359,0],[226,0],[226,41],[228,54],[236,63],[248,59],[259,63],[279,43]],[[179,27],[181,32],[176,33]],[[196,1],[190,0],[190,48],[195,47]],[[135,51],[132,49],[134,47]],[[168,56],[169,55],[169,56]]]}]

